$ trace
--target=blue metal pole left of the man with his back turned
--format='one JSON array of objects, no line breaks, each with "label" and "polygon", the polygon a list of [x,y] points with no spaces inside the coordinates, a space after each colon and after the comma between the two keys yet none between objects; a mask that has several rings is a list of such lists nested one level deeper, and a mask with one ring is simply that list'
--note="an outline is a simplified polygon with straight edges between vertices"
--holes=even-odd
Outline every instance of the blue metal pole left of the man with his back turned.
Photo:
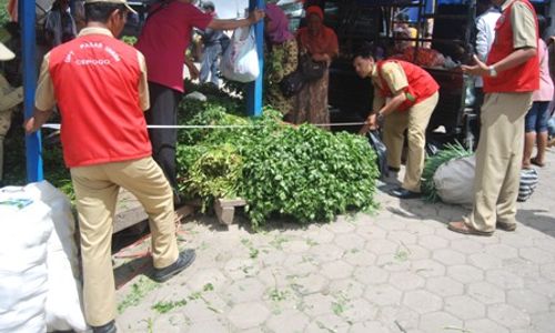
[{"label": "blue metal pole left of the man with his back turned", "polygon": [[[37,87],[36,69],[36,4],[34,0],[19,1],[19,20],[22,37],[22,63],[23,63],[23,108],[26,119],[34,112],[34,90]],[[27,181],[38,182],[43,180],[42,157],[41,157],[40,131],[26,137],[27,155]]]}]

